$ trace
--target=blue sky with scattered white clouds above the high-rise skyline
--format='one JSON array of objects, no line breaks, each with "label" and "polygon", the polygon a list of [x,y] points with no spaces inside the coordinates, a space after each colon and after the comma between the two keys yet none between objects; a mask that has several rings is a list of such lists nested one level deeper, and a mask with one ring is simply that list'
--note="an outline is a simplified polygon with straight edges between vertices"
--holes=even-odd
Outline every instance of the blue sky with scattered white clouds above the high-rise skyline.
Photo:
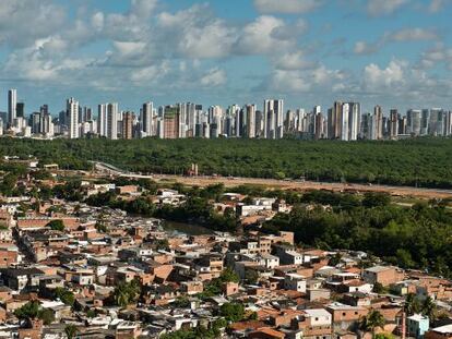
[{"label": "blue sky with scattered white clouds above the high-rise skyline", "polygon": [[0,110],[452,109],[452,0],[2,0]]}]

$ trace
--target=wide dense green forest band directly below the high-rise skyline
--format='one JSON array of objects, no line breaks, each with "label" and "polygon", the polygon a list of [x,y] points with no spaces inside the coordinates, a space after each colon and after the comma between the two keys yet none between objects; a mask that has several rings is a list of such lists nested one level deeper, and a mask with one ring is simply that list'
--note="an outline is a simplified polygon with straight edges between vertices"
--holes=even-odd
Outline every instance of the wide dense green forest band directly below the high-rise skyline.
[{"label": "wide dense green forest band directly below the high-rise skyline", "polygon": [[3,137],[0,156],[33,155],[41,164],[88,169],[88,160],[124,170],[183,173],[192,162],[200,173],[255,178],[452,187],[452,140],[399,142],[296,140],[55,140]]}]

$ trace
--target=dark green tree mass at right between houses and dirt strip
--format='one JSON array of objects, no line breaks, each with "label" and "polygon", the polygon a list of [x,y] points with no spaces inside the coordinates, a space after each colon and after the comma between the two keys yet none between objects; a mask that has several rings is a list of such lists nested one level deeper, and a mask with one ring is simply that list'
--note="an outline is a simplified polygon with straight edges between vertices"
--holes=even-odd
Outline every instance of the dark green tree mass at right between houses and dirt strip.
[{"label": "dark green tree mass at right between houses and dirt strip", "polygon": [[[332,208],[316,205],[328,196]],[[314,208],[294,207],[263,226],[265,232],[295,232],[298,242],[323,249],[360,250],[403,268],[452,276],[452,211],[443,203],[390,204],[385,194],[312,192],[304,199]]]}]

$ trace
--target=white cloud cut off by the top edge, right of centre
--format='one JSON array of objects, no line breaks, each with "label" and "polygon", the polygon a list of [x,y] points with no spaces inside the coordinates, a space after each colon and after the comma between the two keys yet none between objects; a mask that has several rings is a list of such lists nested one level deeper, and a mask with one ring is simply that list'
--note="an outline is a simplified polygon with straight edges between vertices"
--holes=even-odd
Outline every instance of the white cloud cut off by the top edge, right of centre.
[{"label": "white cloud cut off by the top edge, right of centre", "polygon": [[261,13],[301,14],[322,4],[323,0],[254,0],[254,7]]}]

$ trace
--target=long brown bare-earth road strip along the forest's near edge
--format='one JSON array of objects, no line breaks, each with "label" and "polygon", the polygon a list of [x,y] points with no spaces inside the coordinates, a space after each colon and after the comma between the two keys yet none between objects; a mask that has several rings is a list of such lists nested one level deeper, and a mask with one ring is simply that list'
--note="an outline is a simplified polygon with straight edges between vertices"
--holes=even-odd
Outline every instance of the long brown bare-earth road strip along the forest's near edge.
[{"label": "long brown bare-earth road strip along the forest's near edge", "polygon": [[174,181],[186,185],[206,186],[215,183],[223,183],[226,187],[253,184],[264,185],[267,187],[282,190],[326,190],[334,192],[385,192],[396,196],[413,196],[417,198],[452,198],[452,191],[438,189],[420,189],[411,186],[389,186],[389,185],[365,185],[365,184],[344,184],[334,182],[314,182],[314,181],[294,181],[294,180],[276,180],[276,179],[260,179],[260,178],[227,178],[227,177],[182,177],[170,174],[154,174],[143,175],[139,173],[131,173],[116,168],[112,165],[105,162],[95,162],[95,168],[98,171],[126,177],[126,178],[141,178],[152,179],[157,182]]}]

